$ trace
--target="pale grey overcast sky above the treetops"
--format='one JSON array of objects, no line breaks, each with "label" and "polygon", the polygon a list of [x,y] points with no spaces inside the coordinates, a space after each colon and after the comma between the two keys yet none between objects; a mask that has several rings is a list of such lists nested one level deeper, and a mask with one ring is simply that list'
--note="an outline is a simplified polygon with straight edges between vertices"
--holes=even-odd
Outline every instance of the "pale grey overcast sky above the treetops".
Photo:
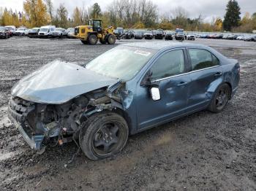
[{"label": "pale grey overcast sky above the treetops", "polygon": [[[56,9],[60,3],[63,3],[69,11],[69,16],[72,15],[73,9],[78,6],[82,7],[91,6],[95,2],[99,4],[102,10],[107,9],[108,4],[112,0],[52,0],[53,6]],[[228,0],[152,0],[154,4],[157,4],[159,14],[170,12],[176,7],[183,7],[189,13],[189,17],[197,17],[201,14],[205,20],[211,21],[212,17],[224,17],[225,8]],[[249,12],[251,15],[256,12],[256,0],[238,0],[238,4],[241,7],[241,16],[245,12]],[[0,0],[0,7],[12,8],[12,10],[23,10],[22,0]]]}]

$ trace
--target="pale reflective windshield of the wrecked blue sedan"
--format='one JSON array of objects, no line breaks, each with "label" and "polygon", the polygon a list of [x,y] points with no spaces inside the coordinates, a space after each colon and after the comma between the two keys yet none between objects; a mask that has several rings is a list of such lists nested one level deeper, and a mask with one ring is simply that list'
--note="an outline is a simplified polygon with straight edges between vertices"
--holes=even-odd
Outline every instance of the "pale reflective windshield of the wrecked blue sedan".
[{"label": "pale reflective windshield of the wrecked blue sedan", "polygon": [[86,69],[124,81],[132,79],[156,50],[118,46],[86,64]]}]

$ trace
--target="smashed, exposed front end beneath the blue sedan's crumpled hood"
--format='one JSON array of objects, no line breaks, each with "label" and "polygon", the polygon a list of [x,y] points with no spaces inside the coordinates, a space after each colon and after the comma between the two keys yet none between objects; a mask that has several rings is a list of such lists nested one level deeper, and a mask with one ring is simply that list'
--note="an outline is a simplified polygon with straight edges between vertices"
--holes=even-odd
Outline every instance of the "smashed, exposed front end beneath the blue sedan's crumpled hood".
[{"label": "smashed, exposed front end beneath the blue sedan's crumpled hood", "polygon": [[105,87],[79,95],[64,104],[39,104],[12,97],[8,115],[31,149],[39,151],[48,144],[77,139],[80,125],[91,114],[116,108],[121,98],[113,94]]}]

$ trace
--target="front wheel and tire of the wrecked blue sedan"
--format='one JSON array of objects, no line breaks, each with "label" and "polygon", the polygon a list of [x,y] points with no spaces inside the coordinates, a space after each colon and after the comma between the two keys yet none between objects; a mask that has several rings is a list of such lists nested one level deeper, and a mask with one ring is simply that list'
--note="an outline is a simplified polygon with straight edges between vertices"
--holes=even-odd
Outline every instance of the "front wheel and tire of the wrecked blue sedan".
[{"label": "front wheel and tire of the wrecked blue sedan", "polygon": [[83,122],[80,148],[91,160],[100,160],[120,152],[127,144],[129,128],[121,115],[101,112]]}]

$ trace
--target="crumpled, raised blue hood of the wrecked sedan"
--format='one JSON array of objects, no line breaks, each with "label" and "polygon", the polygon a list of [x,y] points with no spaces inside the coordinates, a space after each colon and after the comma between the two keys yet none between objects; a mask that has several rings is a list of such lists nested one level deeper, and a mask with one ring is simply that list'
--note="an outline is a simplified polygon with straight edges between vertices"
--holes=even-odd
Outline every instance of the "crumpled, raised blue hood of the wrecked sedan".
[{"label": "crumpled, raised blue hood of the wrecked sedan", "polygon": [[78,95],[112,86],[118,81],[74,63],[53,61],[20,79],[12,87],[12,96],[42,104],[63,104]]}]

